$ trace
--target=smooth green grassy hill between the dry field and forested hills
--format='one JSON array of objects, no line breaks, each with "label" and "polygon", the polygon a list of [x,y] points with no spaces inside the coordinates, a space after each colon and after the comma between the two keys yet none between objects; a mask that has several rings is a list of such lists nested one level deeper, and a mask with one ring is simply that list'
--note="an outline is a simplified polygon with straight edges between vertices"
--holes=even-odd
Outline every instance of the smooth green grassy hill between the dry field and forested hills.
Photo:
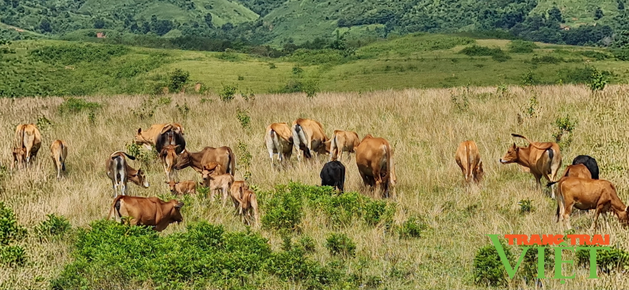
[{"label": "smooth green grassy hill between the dry field and forested hills", "polygon": [[[419,87],[583,83],[591,69],[607,71],[612,83],[625,83],[629,63],[613,51],[538,43],[527,53],[511,52],[509,40],[474,40],[455,35],[415,34],[342,50],[297,50],[282,58],[227,51],[181,51],[69,41],[14,41],[0,54],[0,94],[152,94],[166,86],[168,73],[190,73],[188,89],[295,92],[304,85],[319,91],[368,91]],[[480,46],[498,56],[462,53]],[[491,53],[494,53],[491,52]],[[476,53],[476,54],[475,54]]]}]

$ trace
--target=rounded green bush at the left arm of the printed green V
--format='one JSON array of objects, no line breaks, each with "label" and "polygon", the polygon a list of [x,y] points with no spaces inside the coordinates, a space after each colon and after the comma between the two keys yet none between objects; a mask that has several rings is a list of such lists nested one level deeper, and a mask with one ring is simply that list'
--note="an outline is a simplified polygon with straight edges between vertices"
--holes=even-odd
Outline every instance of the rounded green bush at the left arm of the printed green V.
[{"label": "rounded green bush at the left arm of the printed green V", "polygon": [[[502,244],[502,241],[501,241]],[[509,261],[513,260],[511,250],[504,244],[504,254]],[[474,256],[474,282],[479,286],[504,286],[507,282],[506,270],[500,260],[498,251],[493,244],[481,247]]]}]

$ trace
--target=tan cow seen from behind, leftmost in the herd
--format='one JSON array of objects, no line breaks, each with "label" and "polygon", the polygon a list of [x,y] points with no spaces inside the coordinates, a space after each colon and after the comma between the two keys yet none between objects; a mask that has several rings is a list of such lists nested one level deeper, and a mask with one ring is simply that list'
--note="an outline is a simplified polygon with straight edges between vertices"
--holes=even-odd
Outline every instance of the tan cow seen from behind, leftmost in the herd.
[{"label": "tan cow seen from behind, leftmost in the herd", "polygon": [[[26,166],[31,164],[31,159],[35,159],[37,152],[42,147],[42,134],[35,124],[19,124],[15,128],[15,138],[13,142],[13,161]],[[13,164],[11,168],[13,168]]]}]

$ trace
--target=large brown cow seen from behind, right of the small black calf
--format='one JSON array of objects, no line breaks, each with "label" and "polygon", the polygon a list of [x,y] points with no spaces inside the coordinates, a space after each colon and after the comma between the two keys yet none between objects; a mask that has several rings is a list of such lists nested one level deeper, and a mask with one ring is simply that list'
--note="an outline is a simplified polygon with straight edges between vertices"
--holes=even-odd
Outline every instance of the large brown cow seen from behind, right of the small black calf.
[{"label": "large brown cow seen from behind, right of the small black calf", "polygon": [[372,186],[372,190],[380,188],[386,197],[389,197],[391,187],[392,197],[396,198],[398,178],[395,175],[393,149],[388,141],[370,134],[365,136],[356,148],[356,165],[365,185]]}]

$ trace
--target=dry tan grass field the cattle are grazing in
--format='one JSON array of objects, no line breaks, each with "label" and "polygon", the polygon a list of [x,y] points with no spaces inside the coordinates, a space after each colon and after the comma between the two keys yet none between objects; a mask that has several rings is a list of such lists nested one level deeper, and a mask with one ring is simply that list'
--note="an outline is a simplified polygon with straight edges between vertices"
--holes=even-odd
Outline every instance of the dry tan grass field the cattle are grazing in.
[{"label": "dry tan grass field the cattle are grazing in", "polygon": [[[459,96],[459,106],[452,101]],[[469,105],[462,101],[467,95]],[[529,107],[535,95],[538,104],[532,116],[523,109]],[[563,85],[543,87],[509,87],[499,96],[494,87],[428,90],[386,90],[361,93],[324,92],[313,99],[304,94],[256,95],[246,102],[238,97],[225,103],[215,95],[171,95],[172,103],[155,110],[153,117],[138,119],[138,110],[147,96],[120,95],[87,97],[101,102],[94,124],[85,112],[60,115],[57,106],[61,98],[0,99],[0,201],[14,209],[19,223],[33,227],[48,213],[69,218],[73,227],[87,227],[92,220],[106,217],[112,201],[109,179],[104,174],[104,161],[110,153],[125,150],[138,127],[151,124],[179,122],[186,129],[187,148],[198,151],[204,146],[230,146],[237,154],[241,141],[252,154],[251,181],[261,190],[276,184],[300,181],[309,185],[320,183],[319,173],[327,156],[298,163],[296,156],[281,169],[272,169],[264,145],[265,127],[272,122],[292,122],[299,117],[315,119],[323,124],[328,136],[335,129],[384,137],[394,148],[398,176],[394,222],[401,223],[411,215],[421,216],[430,229],[419,239],[399,239],[384,232],[382,227],[356,223],[342,228],[357,244],[357,257],[349,268],[357,267],[359,259],[369,261],[368,274],[386,277],[380,288],[389,289],[467,289],[484,288],[474,284],[472,260],[479,247],[489,243],[486,234],[563,234],[564,228],[555,223],[556,203],[548,191],[535,188],[533,176],[521,171],[516,164],[499,164],[498,160],[513,142],[511,133],[519,133],[535,141],[554,141],[555,119],[569,115],[576,120],[571,144],[563,144],[564,166],[578,154],[588,154],[598,160],[601,178],[612,181],[623,201],[629,200],[629,87],[611,86],[592,94],[585,86]],[[182,114],[175,107],[184,102],[189,112]],[[460,108],[460,109],[459,109]],[[243,129],[237,119],[237,109],[247,109],[250,128]],[[520,117],[518,117],[520,114]],[[34,168],[10,168],[14,128],[19,123],[36,122],[45,116],[52,125],[42,127],[43,144]],[[564,139],[567,136],[564,136]],[[48,148],[55,139],[69,145],[67,177],[57,181]],[[460,142],[472,139],[479,146],[486,175],[479,185],[464,186],[454,153]],[[345,154],[347,155],[347,154]],[[137,168],[140,163],[132,161]],[[362,180],[350,157],[343,156],[347,166],[347,191],[360,191]],[[243,176],[239,164],[236,179]],[[155,162],[143,166],[150,187],[142,189],[129,185],[129,193],[156,196],[167,193],[162,166]],[[180,180],[199,180],[191,168],[179,171]],[[518,201],[531,199],[535,208],[520,213]],[[391,201],[393,202],[393,201]],[[184,206],[185,207],[185,206]],[[575,211],[577,212],[577,211]],[[262,212],[264,215],[264,212]],[[232,217],[231,208],[220,203],[208,207],[196,206],[184,212],[184,222],[172,224],[162,235],[185,230],[186,223],[208,220],[225,225],[228,230],[243,230],[239,218]],[[303,234],[316,240],[313,259],[324,263],[331,259],[323,247],[326,227],[318,212],[306,212]],[[572,225],[577,234],[587,234],[591,214],[576,213]],[[255,228],[270,239],[273,249],[279,249],[281,238],[276,232]],[[627,249],[629,235],[616,217],[610,218],[612,244]],[[600,230],[599,230],[600,232]],[[295,234],[298,235],[298,234]],[[69,262],[71,241],[39,242],[31,235],[22,242],[29,262],[26,266],[0,269],[0,286],[4,289],[46,288]],[[571,257],[568,255],[568,257]],[[393,269],[396,269],[393,271]],[[572,271],[564,266],[564,271]],[[392,274],[395,272],[396,274]],[[570,272],[567,272],[570,273]],[[629,285],[626,274],[599,274],[601,279],[586,279],[587,269],[577,267],[576,278],[560,284],[559,279],[543,280],[546,289],[622,289]],[[549,276],[550,274],[547,274]],[[268,287],[279,287],[269,282]],[[299,285],[294,285],[299,288]],[[531,289],[514,279],[509,289]]]}]

